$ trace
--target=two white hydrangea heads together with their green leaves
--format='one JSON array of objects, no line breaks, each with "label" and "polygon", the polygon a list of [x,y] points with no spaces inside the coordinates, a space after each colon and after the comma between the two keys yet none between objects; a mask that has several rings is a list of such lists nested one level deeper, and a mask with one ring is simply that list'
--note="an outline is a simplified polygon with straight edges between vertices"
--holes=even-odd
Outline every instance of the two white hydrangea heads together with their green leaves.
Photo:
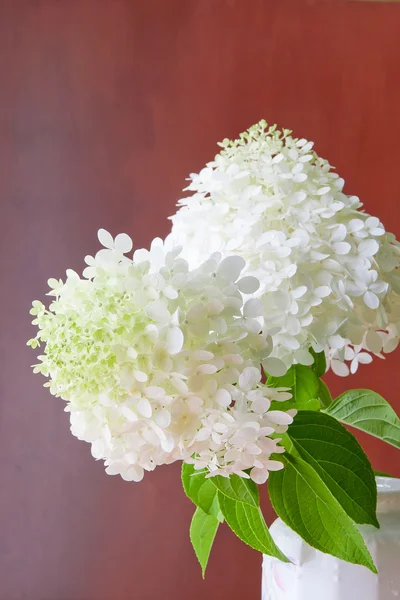
[{"label": "two white hydrangea heads together with their green leaves", "polygon": [[374,472],[343,423],[400,448],[400,419],[369,390],[332,400],[321,377],[396,348],[400,244],[311,142],[262,121],[220,146],[165,242],[128,257],[131,239],[101,229],[82,278],[49,280],[34,371],[108,474],[182,461],[203,574],[224,521],[288,560],[260,510],[267,480],[305,541],[376,571],[357,528],[379,526]]}]

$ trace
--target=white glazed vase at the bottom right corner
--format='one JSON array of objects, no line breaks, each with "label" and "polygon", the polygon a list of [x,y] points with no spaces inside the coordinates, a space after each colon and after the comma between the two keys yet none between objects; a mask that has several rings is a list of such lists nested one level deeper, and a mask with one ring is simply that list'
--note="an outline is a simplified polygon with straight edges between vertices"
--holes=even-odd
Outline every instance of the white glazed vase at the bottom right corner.
[{"label": "white glazed vase at the bottom right corner", "polygon": [[381,528],[360,531],[378,575],[314,550],[277,519],[272,537],[293,564],[264,556],[262,600],[400,600],[400,479],[377,477],[377,485]]}]

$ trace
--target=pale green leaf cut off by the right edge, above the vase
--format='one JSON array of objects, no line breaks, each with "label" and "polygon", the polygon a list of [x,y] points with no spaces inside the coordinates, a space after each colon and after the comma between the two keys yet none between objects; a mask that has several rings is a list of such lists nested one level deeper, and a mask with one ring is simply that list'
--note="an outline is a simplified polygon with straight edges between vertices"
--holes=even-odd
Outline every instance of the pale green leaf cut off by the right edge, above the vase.
[{"label": "pale green leaf cut off by the right edge, above the vase", "polygon": [[390,404],[376,392],[344,392],[325,412],[346,425],[400,448],[400,419]]}]

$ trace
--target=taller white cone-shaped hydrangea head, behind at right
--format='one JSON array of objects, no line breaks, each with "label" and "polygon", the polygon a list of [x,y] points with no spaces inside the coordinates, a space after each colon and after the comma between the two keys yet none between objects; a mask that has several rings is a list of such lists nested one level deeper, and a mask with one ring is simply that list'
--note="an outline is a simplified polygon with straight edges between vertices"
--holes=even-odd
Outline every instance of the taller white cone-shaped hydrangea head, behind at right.
[{"label": "taller white cone-shaped hydrangea head, behind at right", "polygon": [[[223,150],[198,175],[171,217],[167,247],[180,244],[190,267],[210,252],[246,260],[261,286],[272,356],[309,365],[326,350],[338,375],[397,346],[400,245],[361,211],[344,180],[312,142],[265,121]],[[205,234],[205,232],[207,232]],[[244,282],[252,290],[251,280]],[[346,361],[350,361],[349,368]]]}]

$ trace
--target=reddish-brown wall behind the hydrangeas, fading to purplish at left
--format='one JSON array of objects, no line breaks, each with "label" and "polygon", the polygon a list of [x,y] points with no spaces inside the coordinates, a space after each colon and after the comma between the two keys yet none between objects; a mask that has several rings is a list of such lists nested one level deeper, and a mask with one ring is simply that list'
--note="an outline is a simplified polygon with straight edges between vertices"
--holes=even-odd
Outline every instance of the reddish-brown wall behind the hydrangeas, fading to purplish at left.
[{"label": "reddish-brown wall behind the hydrangeas, fading to purplish at left", "polygon": [[[31,374],[27,311],[99,227],[166,234],[187,174],[262,117],[315,140],[400,233],[399,34],[382,2],[0,1],[0,600],[260,597],[260,557],[226,527],[201,581],[178,466],[128,484],[72,438]],[[334,391],[400,408],[398,360]],[[362,441],[400,475],[394,449]]]}]

